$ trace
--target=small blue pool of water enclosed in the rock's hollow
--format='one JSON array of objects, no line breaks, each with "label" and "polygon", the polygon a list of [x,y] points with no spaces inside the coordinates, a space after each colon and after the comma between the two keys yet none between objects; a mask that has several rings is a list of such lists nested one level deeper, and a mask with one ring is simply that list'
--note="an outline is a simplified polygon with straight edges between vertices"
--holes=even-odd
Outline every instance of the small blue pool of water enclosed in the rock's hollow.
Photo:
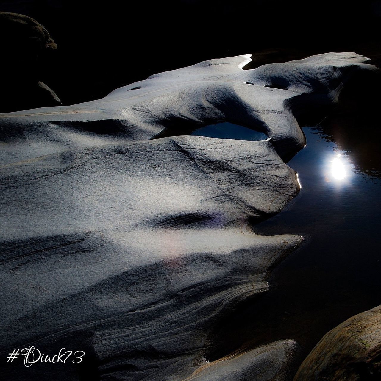
[{"label": "small blue pool of water enclosed in the rock's hollow", "polygon": [[209,136],[210,138],[219,139],[238,139],[238,140],[266,140],[267,135],[263,132],[250,130],[234,123],[221,122],[210,124],[194,130],[191,135]]}]

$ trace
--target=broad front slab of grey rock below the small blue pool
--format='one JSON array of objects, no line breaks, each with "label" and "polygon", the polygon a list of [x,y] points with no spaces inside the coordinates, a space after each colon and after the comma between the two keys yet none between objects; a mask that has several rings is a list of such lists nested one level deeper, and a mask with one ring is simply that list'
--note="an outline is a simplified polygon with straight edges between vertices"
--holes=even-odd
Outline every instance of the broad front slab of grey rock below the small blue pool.
[{"label": "broad front slab of grey rock below the small blue pool", "polygon": [[266,291],[301,242],[250,231],[299,186],[269,142],[238,143],[165,138],[4,166],[3,343],[58,346],[75,327],[95,334],[104,377],[124,379],[126,363],[132,379],[191,372],[216,319]]}]

